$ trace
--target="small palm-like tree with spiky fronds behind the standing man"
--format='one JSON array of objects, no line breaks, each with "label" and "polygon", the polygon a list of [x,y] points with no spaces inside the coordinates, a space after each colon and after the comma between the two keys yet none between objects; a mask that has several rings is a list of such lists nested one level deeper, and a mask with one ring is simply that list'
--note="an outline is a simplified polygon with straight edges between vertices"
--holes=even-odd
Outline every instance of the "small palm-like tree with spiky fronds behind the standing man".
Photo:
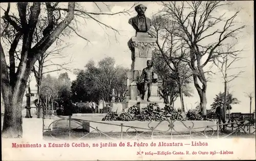
[{"label": "small palm-like tree with spiky fronds behind the standing man", "polygon": [[[216,97],[214,98],[214,103],[212,103],[211,106],[211,110],[215,111],[217,107],[221,106],[224,107],[224,97],[225,94],[224,93],[219,93],[218,95],[216,95]],[[234,98],[232,94],[229,94],[228,98],[225,99],[226,100],[226,110],[231,110],[233,104],[239,104],[240,101],[237,98]]]}]

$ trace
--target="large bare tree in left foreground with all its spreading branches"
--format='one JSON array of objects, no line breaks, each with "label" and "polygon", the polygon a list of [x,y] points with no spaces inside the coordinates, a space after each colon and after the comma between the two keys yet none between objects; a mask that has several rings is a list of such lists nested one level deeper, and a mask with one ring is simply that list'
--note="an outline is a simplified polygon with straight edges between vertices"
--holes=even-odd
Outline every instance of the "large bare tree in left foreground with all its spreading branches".
[{"label": "large bare tree in left foreground with all its spreading branches", "polygon": [[[79,37],[88,40],[79,35],[75,28],[72,27],[76,23],[76,21],[73,21],[75,17],[79,16],[84,20],[94,20],[99,25],[118,32],[111,26],[101,22],[95,15],[127,14],[130,11],[129,9],[117,13],[93,13],[79,9],[79,7],[75,2],[69,2],[67,8],[58,2],[17,3],[17,8],[11,7],[11,3],[8,3],[6,9],[1,7],[4,11],[4,15],[1,17],[0,44],[1,90],[5,103],[3,136],[16,137],[22,133],[22,112],[20,107],[28,77],[39,57],[63,33],[69,34],[73,31]],[[12,8],[16,10],[14,13],[10,11]],[[37,32],[42,32],[42,34],[35,34]],[[36,37],[36,35],[42,36]],[[39,41],[36,41],[36,39],[39,39]],[[7,55],[5,51],[8,51]]]}]

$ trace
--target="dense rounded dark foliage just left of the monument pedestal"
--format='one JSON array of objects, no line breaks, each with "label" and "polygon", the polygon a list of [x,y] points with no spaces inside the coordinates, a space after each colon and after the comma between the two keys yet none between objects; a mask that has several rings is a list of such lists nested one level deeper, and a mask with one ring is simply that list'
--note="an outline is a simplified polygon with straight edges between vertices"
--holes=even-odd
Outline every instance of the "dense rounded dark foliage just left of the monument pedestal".
[{"label": "dense rounded dark foliage just left of the monument pedestal", "polygon": [[74,102],[98,102],[99,99],[110,101],[112,89],[115,89],[116,101],[123,100],[126,89],[126,72],[129,71],[127,68],[116,66],[115,59],[111,57],[103,58],[98,64],[90,60],[85,67],[85,70],[76,73],[77,78],[72,82],[71,90]]}]

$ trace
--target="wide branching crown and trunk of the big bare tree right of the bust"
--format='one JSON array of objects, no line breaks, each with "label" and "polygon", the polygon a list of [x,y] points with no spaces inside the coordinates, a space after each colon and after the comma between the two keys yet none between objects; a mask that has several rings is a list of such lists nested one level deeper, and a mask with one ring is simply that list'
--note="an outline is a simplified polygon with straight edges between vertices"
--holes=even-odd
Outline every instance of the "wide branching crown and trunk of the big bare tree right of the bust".
[{"label": "wide branching crown and trunk of the big bare tree right of the bust", "polygon": [[[167,64],[168,61],[182,60],[190,68],[204,116],[207,81],[214,74],[210,70],[206,71],[206,66],[211,66],[210,63],[223,54],[241,52],[237,49],[228,52],[221,50],[237,42],[245,28],[236,21],[240,11],[231,15],[218,14],[219,10],[229,5],[220,1],[162,2],[163,10],[156,15],[159,18],[155,29],[164,30],[160,34],[156,33],[163,38],[157,41],[163,41],[168,51],[163,51],[162,55],[172,55],[170,59],[165,59]],[[169,67],[172,67],[171,64]]]}]

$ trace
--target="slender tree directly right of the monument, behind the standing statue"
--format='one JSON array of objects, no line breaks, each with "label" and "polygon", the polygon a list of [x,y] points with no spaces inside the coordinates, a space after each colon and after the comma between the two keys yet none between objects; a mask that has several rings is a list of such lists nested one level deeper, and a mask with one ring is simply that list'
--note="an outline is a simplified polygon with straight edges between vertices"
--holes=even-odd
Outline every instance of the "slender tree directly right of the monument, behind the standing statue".
[{"label": "slender tree directly right of the monument, behind the standing statue", "polygon": [[[166,92],[168,94],[171,94],[172,96],[175,96],[174,91],[175,88],[177,88],[178,95],[180,96],[181,101],[181,109],[182,111],[185,111],[183,94],[185,94],[186,96],[191,95],[187,92],[188,90],[185,90],[186,92],[183,93],[183,89],[185,87],[188,87],[192,75],[191,70],[187,65],[187,62],[178,59],[180,57],[185,58],[187,56],[186,51],[183,48],[184,43],[175,34],[176,32],[179,32],[176,26],[170,24],[162,15],[156,14],[152,19],[152,24],[154,28],[150,30],[150,35],[157,39],[157,45],[153,56],[157,57],[157,59],[155,59],[158,61],[156,62],[156,64],[159,64],[160,61],[162,61],[161,64],[164,63],[164,67],[157,67],[157,71],[158,73],[163,73],[161,74],[162,77],[163,75],[165,75],[165,77],[169,79],[168,82],[171,84],[168,84],[168,86],[172,87],[171,92],[169,92],[168,90],[162,90],[163,98],[165,102],[168,103],[168,101],[166,100]],[[164,78],[164,86],[167,85],[166,82],[166,78]]]}]

